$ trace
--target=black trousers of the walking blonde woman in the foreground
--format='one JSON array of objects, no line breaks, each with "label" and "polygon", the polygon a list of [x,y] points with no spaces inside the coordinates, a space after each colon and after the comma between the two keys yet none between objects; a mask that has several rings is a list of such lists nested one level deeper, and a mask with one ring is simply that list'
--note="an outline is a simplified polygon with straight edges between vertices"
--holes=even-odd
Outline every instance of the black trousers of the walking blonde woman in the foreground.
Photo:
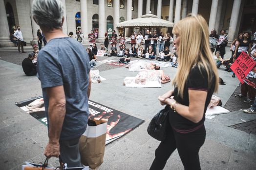
[{"label": "black trousers of the walking blonde woman in the foreground", "polygon": [[[170,126],[170,125],[169,125]],[[171,128],[168,128],[168,135],[165,140],[161,141],[155,151],[155,159],[150,170],[162,170],[171,153],[178,149],[184,170],[201,170],[199,161],[199,150],[205,141],[204,125],[198,130],[181,134]]]}]

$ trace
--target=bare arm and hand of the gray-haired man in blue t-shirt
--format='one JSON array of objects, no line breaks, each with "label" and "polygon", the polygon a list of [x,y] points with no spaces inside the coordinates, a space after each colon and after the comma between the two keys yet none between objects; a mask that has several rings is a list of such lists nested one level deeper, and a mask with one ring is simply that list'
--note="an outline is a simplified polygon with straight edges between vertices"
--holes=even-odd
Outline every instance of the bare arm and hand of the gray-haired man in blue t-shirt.
[{"label": "bare arm and hand of the gray-haired man in blue t-shirt", "polygon": [[60,136],[66,114],[66,99],[63,85],[46,88],[49,97],[49,142],[46,145],[44,155],[46,157],[60,154]]}]

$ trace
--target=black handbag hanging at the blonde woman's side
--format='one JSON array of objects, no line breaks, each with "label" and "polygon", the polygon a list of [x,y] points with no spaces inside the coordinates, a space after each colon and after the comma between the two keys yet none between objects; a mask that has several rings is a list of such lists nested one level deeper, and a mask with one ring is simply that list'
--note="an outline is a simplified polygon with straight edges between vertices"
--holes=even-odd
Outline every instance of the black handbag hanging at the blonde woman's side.
[{"label": "black handbag hanging at the blonde woman's side", "polygon": [[166,105],[164,109],[160,110],[153,119],[151,119],[148,126],[148,134],[150,136],[160,141],[166,138],[169,111],[170,106]]}]

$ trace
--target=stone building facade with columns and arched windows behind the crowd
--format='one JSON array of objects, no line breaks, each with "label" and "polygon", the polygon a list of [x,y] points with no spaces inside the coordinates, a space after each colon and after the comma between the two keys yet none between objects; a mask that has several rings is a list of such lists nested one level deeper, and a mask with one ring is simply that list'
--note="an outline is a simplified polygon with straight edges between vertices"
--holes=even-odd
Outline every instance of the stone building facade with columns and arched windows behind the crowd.
[{"label": "stone building facade with columns and arched windows behind the crowd", "polygon": [[[115,24],[152,12],[174,22],[187,14],[201,14],[210,30],[225,29],[229,40],[242,31],[256,31],[256,0],[62,0],[65,7],[65,34],[81,28],[84,35],[98,31],[99,39],[106,32],[130,35],[130,29],[116,29]],[[31,17],[33,0],[0,0],[0,47],[12,45],[9,33],[20,26],[26,42],[36,40],[39,26]],[[160,29],[157,29],[160,32]],[[171,29],[161,29],[164,33]],[[85,36],[86,37],[86,36]]]}]

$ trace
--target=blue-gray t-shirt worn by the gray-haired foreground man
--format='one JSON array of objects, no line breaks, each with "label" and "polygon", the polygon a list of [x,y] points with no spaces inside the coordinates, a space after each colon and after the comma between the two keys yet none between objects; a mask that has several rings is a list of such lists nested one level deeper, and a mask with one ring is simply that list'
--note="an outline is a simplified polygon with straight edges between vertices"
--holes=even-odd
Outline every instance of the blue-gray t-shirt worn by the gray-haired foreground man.
[{"label": "blue-gray t-shirt worn by the gray-haired foreground man", "polygon": [[64,86],[66,114],[60,140],[81,136],[88,120],[88,97],[90,61],[84,47],[76,40],[63,37],[51,39],[39,51],[38,78],[43,89],[45,114],[48,120],[49,98],[47,87]]}]

